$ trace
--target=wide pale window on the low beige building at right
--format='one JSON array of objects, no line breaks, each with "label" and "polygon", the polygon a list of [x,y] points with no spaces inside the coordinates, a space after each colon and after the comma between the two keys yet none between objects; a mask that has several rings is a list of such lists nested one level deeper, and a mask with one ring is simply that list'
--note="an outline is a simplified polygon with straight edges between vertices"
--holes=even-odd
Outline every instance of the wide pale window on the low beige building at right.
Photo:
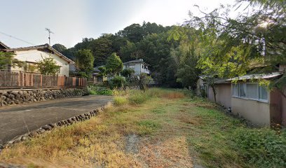
[{"label": "wide pale window on the low beige building at right", "polygon": [[232,96],[244,99],[254,99],[262,102],[268,101],[268,92],[266,88],[258,85],[258,83],[233,83]]}]

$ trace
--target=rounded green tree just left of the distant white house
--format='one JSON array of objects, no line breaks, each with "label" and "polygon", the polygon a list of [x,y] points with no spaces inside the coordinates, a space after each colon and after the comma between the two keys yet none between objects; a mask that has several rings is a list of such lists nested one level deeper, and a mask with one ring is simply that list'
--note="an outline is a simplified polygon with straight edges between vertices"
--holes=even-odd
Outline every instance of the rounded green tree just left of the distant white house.
[{"label": "rounded green tree just left of the distant white house", "polygon": [[111,75],[116,75],[123,69],[123,62],[121,61],[120,57],[116,55],[116,53],[112,53],[107,58],[107,72]]}]

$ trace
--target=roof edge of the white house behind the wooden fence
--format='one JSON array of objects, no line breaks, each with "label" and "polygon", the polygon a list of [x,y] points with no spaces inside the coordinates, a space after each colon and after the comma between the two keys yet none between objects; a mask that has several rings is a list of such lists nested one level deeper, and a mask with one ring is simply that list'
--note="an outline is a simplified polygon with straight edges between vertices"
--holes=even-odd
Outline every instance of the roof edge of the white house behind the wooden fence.
[{"label": "roof edge of the white house behind the wooden fence", "polygon": [[74,62],[69,59],[68,57],[62,55],[62,53],[58,52],[57,50],[55,50],[54,48],[52,48],[50,45],[48,44],[44,44],[44,45],[35,45],[35,46],[29,46],[29,47],[24,47],[24,48],[6,48],[4,49],[4,51],[21,51],[21,50],[38,50],[38,49],[48,49],[50,51],[53,51],[55,53],[55,55],[61,57],[62,59],[66,60],[67,62],[74,64]]}]

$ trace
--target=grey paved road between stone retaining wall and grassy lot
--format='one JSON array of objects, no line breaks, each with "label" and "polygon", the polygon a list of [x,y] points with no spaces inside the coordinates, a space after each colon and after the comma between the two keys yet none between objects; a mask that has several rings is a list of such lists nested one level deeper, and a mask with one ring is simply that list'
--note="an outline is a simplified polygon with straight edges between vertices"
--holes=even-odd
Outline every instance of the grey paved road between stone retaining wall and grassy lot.
[{"label": "grey paved road between stone retaining wall and grassy lot", "polygon": [[0,107],[0,144],[43,125],[97,109],[111,99],[110,96],[90,95]]}]

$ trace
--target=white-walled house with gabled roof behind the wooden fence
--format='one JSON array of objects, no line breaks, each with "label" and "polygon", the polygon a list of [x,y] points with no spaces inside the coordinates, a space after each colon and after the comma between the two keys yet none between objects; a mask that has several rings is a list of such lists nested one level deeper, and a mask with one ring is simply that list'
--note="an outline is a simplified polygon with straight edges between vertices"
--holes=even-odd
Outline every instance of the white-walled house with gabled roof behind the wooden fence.
[{"label": "white-walled house with gabled roof behind the wooden fence", "polygon": [[69,76],[69,65],[74,64],[71,59],[65,57],[57,50],[50,47],[50,45],[48,44],[30,46],[25,48],[8,48],[3,43],[0,43],[0,51],[13,52],[13,54],[15,55],[15,59],[24,62],[24,66],[22,67],[8,67],[8,71],[27,71],[39,73],[39,70],[36,69],[36,64],[38,64],[37,62],[46,57],[53,57],[57,65],[60,66],[58,75]]}]

